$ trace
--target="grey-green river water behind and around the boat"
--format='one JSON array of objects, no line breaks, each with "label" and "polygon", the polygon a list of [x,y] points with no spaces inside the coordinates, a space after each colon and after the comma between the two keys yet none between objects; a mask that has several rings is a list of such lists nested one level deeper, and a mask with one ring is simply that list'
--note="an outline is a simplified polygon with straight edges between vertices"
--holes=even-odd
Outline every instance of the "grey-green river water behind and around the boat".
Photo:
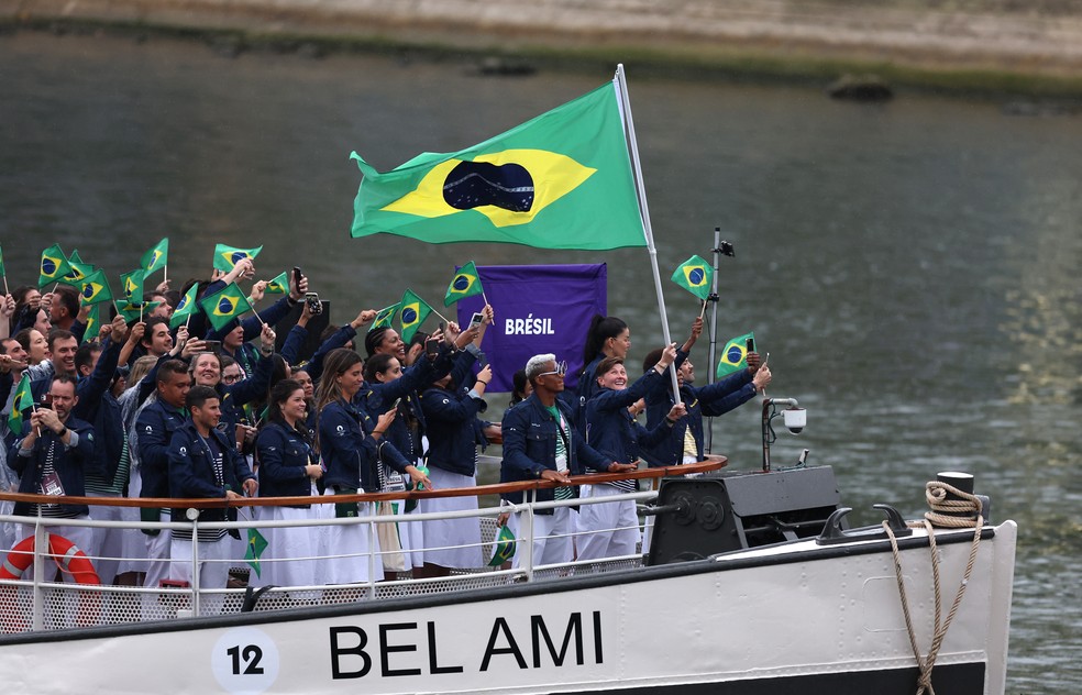
[{"label": "grey-green river water behind and around the boat", "polygon": [[[161,236],[169,276],[216,242],[301,265],[335,320],[432,300],[451,266],[607,262],[631,364],[661,340],[643,250],[549,252],[351,240],[357,150],[389,169],[455,151],[610,74],[485,78],[461,63],[242,54],[195,43],[0,37],[0,243],[12,286],[59,242],[112,274]],[[656,81],[628,66],[664,274],[724,258],[718,333],[754,330],[773,396],[808,427],[774,463],[835,467],[854,521],[924,511],[936,472],[978,476],[1016,519],[1008,693],[1082,691],[1082,119],[1013,117],[915,95],[839,103],[815,89]],[[665,280],[674,337],[697,311]],[[498,309],[498,308],[497,308]],[[705,341],[696,348],[700,380]],[[495,400],[503,400],[501,396]],[[497,409],[498,411],[498,409]],[[760,464],[749,405],[715,424],[731,466]]]}]

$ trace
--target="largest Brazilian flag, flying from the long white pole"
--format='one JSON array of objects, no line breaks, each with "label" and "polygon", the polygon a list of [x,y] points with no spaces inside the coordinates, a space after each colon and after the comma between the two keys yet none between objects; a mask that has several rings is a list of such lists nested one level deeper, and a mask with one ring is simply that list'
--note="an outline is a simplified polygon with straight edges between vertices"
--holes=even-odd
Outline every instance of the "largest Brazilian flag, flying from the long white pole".
[{"label": "largest Brazilian flag, flying from the long white pole", "polygon": [[364,174],[354,238],[387,232],[442,244],[645,246],[616,80],[451,154]]}]

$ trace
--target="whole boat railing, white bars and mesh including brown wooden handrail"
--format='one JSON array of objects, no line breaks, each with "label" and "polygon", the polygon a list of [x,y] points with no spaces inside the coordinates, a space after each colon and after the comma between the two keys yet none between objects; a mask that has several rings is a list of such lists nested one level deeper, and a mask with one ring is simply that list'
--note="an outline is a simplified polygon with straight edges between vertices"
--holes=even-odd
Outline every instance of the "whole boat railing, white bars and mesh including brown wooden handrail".
[{"label": "whole boat railing, white bars and mesh including brown wooden handrail", "polygon": [[[725,465],[724,459],[689,464],[683,466],[647,468],[630,474],[592,474],[573,476],[570,486],[596,485],[620,479],[637,478],[656,481],[664,476],[697,474],[714,471]],[[532,555],[534,540],[534,515],[546,510],[594,504],[610,504],[621,500],[645,501],[656,496],[656,492],[628,493],[599,498],[572,498],[555,501],[537,501],[537,493],[545,488],[561,487],[551,481],[529,481],[521,483],[503,483],[479,485],[470,488],[416,490],[409,493],[367,493],[357,495],[333,495],[324,497],[255,497],[236,500],[224,499],[174,499],[174,498],[122,498],[122,497],[75,497],[75,496],[42,496],[14,493],[0,493],[0,501],[23,501],[38,505],[55,504],[87,504],[93,506],[121,506],[140,508],[172,508],[172,509],[207,509],[234,508],[240,511],[236,521],[200,521],[198,515],[184,521],[96,521],[80,519],[57,519],[43,516],[26,517],[2,515],[0,522],[18,523],[33,529],[34,543],[32,548],[13,549],[0,553],[3,571],[0,571],[0,633],[55,630],[71,627],[90,627],[98,625],[140,622],[148,620],[168,620],[198,615],[217,615],[218,613],[239,613],[243,610],[274,610],[298,606],[341,604],[356,600],[378,600],[394,597],[406,597],[424,594],[437,594],[463,588],[498,587],[518,582],[543,581],[546,578],[566,576],[568,574],[589,574],[606,572],[612,569],[636,566],[641,564],[641,554],[622,558],[606,558],[595,561],[573,561],[571,563],[542,565]],[[253,507],[296,506],[298,504],[327,505],[343,501],[377,503],[424,499],[438,497],[486,497],[507,493],[523,493],[521,504],[509,504],[501,500],[498,506],[484,506],[477,509],[442,512],[412,511],[406,516],[368,514],[351,518],[308,518],[295,520],[260,519],[252,510]],[[374,509],[375,506],[373,505]],[[518,525],[517,562],[496,562],[493,554],[498,545],[497,534],[499,522],[505,515],[521,515]],[[294,556],[291,559],[260,559],[258,553],[249,560],[242,552],[234,552],[225,560],[208,560],[200,558],[201,543],[194,542],[191,556],[191,577],[188,585],[173,583],[164,586],[106,586],[97,583],[56,582],[54,567],[59,569],[62,578],[79,580],[73,574],[68,561],[75,551],[63,551],[51,548],[48,530],[55,526],[75,526],[90,528],[122,528],[133,530],[189,529],[192,538],[198,538],[198,531],[224,529],[238,532],[242,539],[252,531],[284,527],[320,527],[332,526],[365,526],[369,548],[377,547],[379,525],[386,523],[423,523],[440,519],[476,518],[481,525],[482,556],[486,564],[482,567],[454,570],[451,575],[412,578],[409,567],[396,578],[376,581],[377,569],[384,566],[388,555],[402,553],[399,549],[380,549],[378,552],[364,553],[364,562],[368,565],[368,580],[351,584],[320,584],[307,586],[267,587],[258,580],[257,567],[265,569],[268,563],[276,562],[321,562],[335,558],[350,556],[346,554],[313,554],[310,556]],[[27,528],[29,527],[29,528]],[[637,527],[638,528],[638,527]],[[610,529],[615,530],[615,529]],[[610,530],[595,531],[607,532]],[[572,538],[582,536],[582,531],[573,529]],[[222,542],[229,541],[224,539]],[[236,543],[236,541],[234,541]],[[238,544],[238,550],[240,550]],[[465,547],[449,547],[465,548]],[[427,548],[426,550],[445,550],[449,548]],[[81,550],[81,549],[79,549]],[[92,556],[86,553],[91,564],[97,566],[100,561],[113,560],[124,562],[124,558]],[[32,558],[30,563],[26,558]],[[21,558],[21,559],[20,559]],[[253,560],[254,562],[250,562]],[[145,562],[145,560],[144,560]],[[187,561],[186,561],[187,562]],[[223,562],[234,575],[234,587],[205,587],[199,585],[200,562]],[[27,567],[27,564],[30,565]],[[407,565],[409,564],[407,560]],[[32,570],[29,578],[19,566]],[[247,580],[242,577],[247,571]],[[77,573],[76,573],[77,574]],[[12,578],[15,577],[15,578]],[[95,577],[96,580],[97,577]],[[262,586],[261,586],[262,584]],[[252,588],[260,587],[258,596],[253,596]]]}]

